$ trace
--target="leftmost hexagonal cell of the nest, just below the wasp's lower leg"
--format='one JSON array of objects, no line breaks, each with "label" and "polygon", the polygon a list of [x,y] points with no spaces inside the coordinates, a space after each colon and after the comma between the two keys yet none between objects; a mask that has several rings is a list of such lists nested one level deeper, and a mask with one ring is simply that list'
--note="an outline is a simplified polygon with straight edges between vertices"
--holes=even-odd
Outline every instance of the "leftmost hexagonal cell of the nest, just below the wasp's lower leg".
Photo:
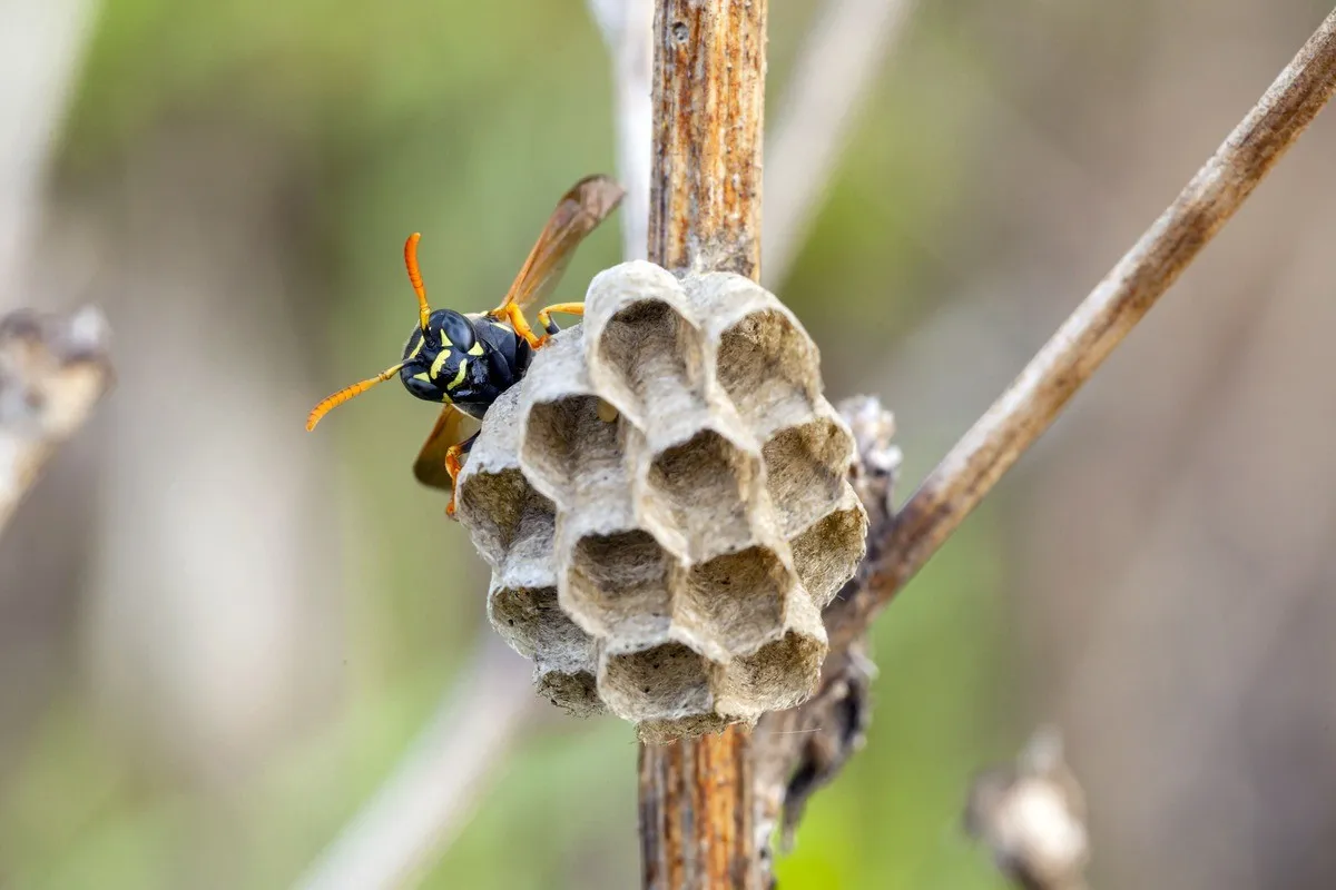
[{"label": "leftmost hexagonal cell of the nest, just below the wasp's lower leg", "polygon": [[513,547],[550,554],[556,506],[538,494],[518,467],[474,472],[460,482],[460,512],[468,518],[473,546],[496,567]]}]

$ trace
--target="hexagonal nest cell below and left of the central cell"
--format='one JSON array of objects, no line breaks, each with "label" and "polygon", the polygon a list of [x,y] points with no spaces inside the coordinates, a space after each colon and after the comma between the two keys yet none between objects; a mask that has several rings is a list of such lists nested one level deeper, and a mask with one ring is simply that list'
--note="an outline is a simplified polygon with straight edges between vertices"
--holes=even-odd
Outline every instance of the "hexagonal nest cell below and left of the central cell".
[{"label": "hexagonal nest cell below and left of the central cell", "polygon": [[680,571],[647,531],[587,535],[572,548],[561,604],[596,636],[655,643],[668,632]]}]

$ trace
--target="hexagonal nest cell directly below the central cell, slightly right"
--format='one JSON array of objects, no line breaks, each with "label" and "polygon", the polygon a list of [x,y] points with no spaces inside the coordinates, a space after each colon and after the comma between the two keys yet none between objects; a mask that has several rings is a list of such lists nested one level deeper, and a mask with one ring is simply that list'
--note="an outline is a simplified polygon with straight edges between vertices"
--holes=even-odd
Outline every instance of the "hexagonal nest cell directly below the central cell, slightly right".
[{"label": "hexagonal nest cell directly below the central cell, slightly right", "polygon": [[784,627],[784,598],[794,586],[780,556],[767,547],[716,556],[691,567],[673,603],[673,627],[723,648],[727,660],[755,651]]}]

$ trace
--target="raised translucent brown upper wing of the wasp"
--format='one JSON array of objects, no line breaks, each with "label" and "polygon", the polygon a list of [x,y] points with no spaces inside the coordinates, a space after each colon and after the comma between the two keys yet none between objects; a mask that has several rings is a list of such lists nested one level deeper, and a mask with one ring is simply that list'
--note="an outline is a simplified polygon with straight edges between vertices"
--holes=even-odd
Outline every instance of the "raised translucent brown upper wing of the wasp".
[{"label": "raised translucent brown upper wing of the wasp", "polygon": [[501,315],[512,303],[521,310],[545,299],[557,287],[580,242],[621,203],[625,189],[604,175],[587,176],[570,187],[514,276],[505,300],[492,310]]}]

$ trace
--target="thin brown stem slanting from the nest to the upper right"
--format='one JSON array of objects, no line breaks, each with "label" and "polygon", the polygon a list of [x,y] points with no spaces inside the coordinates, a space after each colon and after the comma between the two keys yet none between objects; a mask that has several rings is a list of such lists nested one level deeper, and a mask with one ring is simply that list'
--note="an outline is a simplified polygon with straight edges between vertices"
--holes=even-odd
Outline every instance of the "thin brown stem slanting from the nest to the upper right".
[{"label": "thin brown stem slanting from the nest to the upper right", "polygon": [[[895,596],[1201,252],[1336,91],[1336,11],[899,511],[862,615]],[[832,640],[834,644],[835,640]]]}]

